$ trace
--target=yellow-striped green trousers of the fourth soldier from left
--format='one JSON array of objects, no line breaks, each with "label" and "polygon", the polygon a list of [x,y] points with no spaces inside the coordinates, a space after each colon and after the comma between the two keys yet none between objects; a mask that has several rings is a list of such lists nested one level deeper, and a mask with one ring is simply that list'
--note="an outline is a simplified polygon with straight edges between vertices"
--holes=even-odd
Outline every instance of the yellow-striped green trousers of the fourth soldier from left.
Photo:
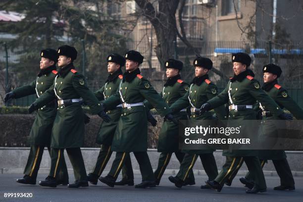
[{"label": "yellow-striped green trousers of the fourth soldier from left", "polygon": [[[116,152],[116,157],[108,173],[108,175],[115,178],[115,180],[117,180],[127,155],[129,155],[129,152]],[[134,152],[134,155],[139,163],[142,181],[154,181],[155,179],[152,171],[152,165],[147,152]]]}]

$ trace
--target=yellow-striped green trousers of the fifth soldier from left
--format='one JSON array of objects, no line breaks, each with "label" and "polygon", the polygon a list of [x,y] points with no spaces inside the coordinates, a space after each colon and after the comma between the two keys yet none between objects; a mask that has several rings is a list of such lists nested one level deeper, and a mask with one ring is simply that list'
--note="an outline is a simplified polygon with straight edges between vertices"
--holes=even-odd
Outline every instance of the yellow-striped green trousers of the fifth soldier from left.
[{"label": "yellow-striped green trousers of the fifth soldier from left", "polygon": [[[172,153],[160,153],[159,156],[159,161],[158,161],[158,167],[157,169],[154,171],[154,177],[156,178],[156,180],[158,182],[160,182],[161,177],[170,161]],[[180,151],[175,152],[175,155],[177,157],[177,159],[179,160],[180,164],[182,163],[185,153],[182,153]],[[123,173],[123,172],[122,172]],[[188,180],[191,182],[195,182],[195,177],[194,177],[194,172],[193,169],[190,169],[189,174],[187,176]]]}]

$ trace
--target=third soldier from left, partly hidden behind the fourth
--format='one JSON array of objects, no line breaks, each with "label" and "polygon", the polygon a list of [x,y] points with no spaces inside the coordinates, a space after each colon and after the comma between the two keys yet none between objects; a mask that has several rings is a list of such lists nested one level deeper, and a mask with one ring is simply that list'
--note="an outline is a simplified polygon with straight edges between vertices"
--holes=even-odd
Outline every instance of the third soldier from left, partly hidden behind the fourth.
[{"label": "third soldier from left, partly hidden behind the fourth", "polygon": [[[104,101],[111,95],[117,92],[120,81],[123,79],[123,73],[121,68],[125,65],[125,58],[117,53],[112,53],[107,56],[107,71],[109,73],[105,85],[95,92],[95,96],[99,101]],[[118,124],[118,120],[121,116],[121,104],[117,107],[107,110],[108,116],[111,118],[110,122],[103,121],[101,123],[99,133],[97,136],[97,143],[101,145],[101,149],[97,158],[97,162],[93,171],[88,174],[88,181],[94,185],[97,185],[98,178],[102,174],[111,154],[111,143],[115,129]],[[123,165],[122,172],[123,178],[120,183],[127,185],[134,185],[134,173],[131,164],[130,156],[127,155],[125,159],[125,164]],[[124,174],[125,173],[125,174]],[[119,184],[118,184],[119,185]]]}]

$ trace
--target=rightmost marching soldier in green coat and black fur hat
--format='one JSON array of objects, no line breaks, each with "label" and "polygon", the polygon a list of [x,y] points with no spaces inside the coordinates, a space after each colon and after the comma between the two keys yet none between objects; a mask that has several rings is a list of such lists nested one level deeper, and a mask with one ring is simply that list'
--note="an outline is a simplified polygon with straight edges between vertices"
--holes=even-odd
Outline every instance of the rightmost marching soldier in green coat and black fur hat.
[{"label": "rightmost marching soldier in green coat and black fur hat", "polygon": [[[264,85],[262,89],[278,103],[281,108],[288,109],[297,119],[303,119],[303,109],[289,96],[286,89],[278,84],[278,78],[281,76],[282,70],[275,64],[267,64],[263,66],[263,80]],[[274,116],[269,112],[262,102],[259,102],[259,108],[262,111],[263,120],[280,120],[278,116]],[[278,134],[277,129],[271,124],[261,124],[260,134],[263,137],[273,137]],[[263,167],[267,160],[272,160],[275,169],[280,177],[280,186],[274,187],[274,190],[295,190],[295,181],[286,159],[286,153],[283,150],[261,150],[259,151],[259,159]],[[240,181],[246,187],[253,187],[253,176],[249,172]]]}]

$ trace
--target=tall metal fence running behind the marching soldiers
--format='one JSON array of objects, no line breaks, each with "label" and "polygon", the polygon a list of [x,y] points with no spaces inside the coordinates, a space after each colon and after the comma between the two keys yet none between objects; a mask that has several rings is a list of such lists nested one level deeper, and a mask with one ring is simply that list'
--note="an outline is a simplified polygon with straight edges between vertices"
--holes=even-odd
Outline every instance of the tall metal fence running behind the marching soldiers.
[{"label": "tall metal fence running behind the marching soldiers", "polygon": [[[157,60],[156,54],[154,52],[154,43],[150,41],[140,41],[140,42],[129,42],[127,48],[135,49],[145,56],[145,61],[142,64],[141,70],[142,74],[147,77],[154,88],[159,92],[161,91],[163,84],[165,83],[164,72],[161,71],[159,62]],[[195,46],[197,47],[197,46]],[[86,50],[86,54],[89,55],[90,51]],[[250,44],[244,42],[199,42],[199,47],[197,51],[201,53],[202,56],[206,56],[212,59],[213,66],[220,70],[224,75],[230,77],[233,75],[231,54],[234,52],[248,52],[252,58],[253,62],[251,69],[255,73],[255,78],[262,83],[262,67],[264,64],[275,63],[281,66],[283,70],[282,76],[279,78],[279,83],[288,89],[289,94],[293,97],[295,101],[303,107],[303,43],[295,42],[292,44],[275,44],[270,42],[259,42],[257,44]],[[26,72],[18,72],[18,64],[20,54],[19,50],[11,50],[7,47],[7,54],[3,43],[0,43],[0,96],[3,99],[5,92],[11,90],[20,85],[29,83],[35,79],[36,75],[27,75]],[[79,55],[82,55],[83,50],[79,51]],[[194,68],[192,68],[191,62],[195,58],[195,54],[188,50],[188,48],[182,44],[182,42],[177,41],[177,49],[179,59],[184,62],[184,66],[188,66],[187,70],[182,72],[182,77],[186,82],[190,82]],[[106,55],[104,53],[104,55]],[[84,61],[85,57],[80,56],[79,64],[89,65],[90,61]],[[103,60],[105,58],[98,58]],[[150,60],[150,61],[148,61]],[[37,61],[39,62],[39,61]],[[8,72],[6,73],[6,66]],[[89,86],[92,90],[97,90],[104,83],[106,75],[104,72],[97,68],[102,68],[100,66],[96,69],[91,69],[90,71],[95,71],[93,74],[86,74]],[[105,68],[105,67],[103,67]],[[191,72],[192,71],[192,72]],[[188,74],[188,75],[186,75]],[[7,76],[9,78],[7,78]],[[219,77],[214,73],[210,73],[211,80],[217,84],[219,89],[223,89],[226,86],[227,81]],[[23,78],[24,82],[18,82],[18,79]],[[24,79],[25,77],[25,79]],[[94,77],[94,79],[92,79]],[[97,79],[96,79],[97,78]],[[94,82],[91,82],[93,81]],[[6,85],[6,81],[8,85]],[[96,82],[97,81],[97,82]],[[0,99],[0,105],[3,104],[2,99]],[[35,95],[25,97],[22,99],[17,99],[13,101],[12,104],[26,106],[35,100]]]}]

